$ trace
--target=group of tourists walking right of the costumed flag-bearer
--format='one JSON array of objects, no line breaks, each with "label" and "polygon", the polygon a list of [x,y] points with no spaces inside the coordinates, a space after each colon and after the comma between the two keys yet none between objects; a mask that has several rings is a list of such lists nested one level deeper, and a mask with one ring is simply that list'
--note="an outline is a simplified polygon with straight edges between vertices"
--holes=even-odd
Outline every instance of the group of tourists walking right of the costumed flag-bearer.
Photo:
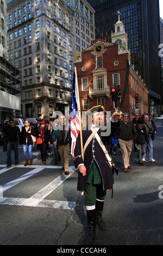
[{"label": "group of tourists walking right of the costumed flag-bearer", "polygon": [[120,128],[112,135],[112,151],[116,155],[117,145],[120,145],[124,172],[130,169],[129,156],[131,154],[132,145],[134,142],[134,149],[138,152],[137,157],[139,164],[146,162],[146,149],[149,149],[149,160],[155,162],[153,159],[153,141],[157,129],[152,115],[145,114],[140,116],[138,113],[132,121],[129,120],[129,114],[123,113]]}]

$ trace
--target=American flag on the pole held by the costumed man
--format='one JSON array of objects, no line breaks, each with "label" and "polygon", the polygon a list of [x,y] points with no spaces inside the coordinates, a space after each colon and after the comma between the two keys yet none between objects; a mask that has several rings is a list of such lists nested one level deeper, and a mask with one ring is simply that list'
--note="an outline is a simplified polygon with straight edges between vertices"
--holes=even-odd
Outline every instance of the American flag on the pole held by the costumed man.
[{"label": "American flag on the pole held by the costumed man", "polygon": [[78,96],[78,83],[76,72],[73,71],[73,83],[72,83],[72,116],[71,116],[71,155],[74,157],[74,148],[76,146],[76,140],[78,133],[80,131],[80,121],[79,121],[79,109],[80,101]]}]

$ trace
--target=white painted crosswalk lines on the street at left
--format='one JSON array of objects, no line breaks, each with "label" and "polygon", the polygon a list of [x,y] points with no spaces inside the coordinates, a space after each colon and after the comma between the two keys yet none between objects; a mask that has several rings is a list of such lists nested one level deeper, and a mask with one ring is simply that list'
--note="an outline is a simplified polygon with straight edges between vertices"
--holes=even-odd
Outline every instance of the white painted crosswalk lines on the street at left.
[{"label": "white painted crosswalk lines on the street at left", "polygon": [[[0,167],[4,167],[4,166],[0,165]],[[18,165],[16,167],[22,168],[24,166]],[[41,170],[43,170],[45,168],[54,168],[54,169],[62,168],[60,166],[29,166],[29,167],[34,168],[34,169],[31,170],[30,172],[20,176],[19,178],[12,180],[12,181],[8,182],[7,184],[3,185],[3,187],[2,187],[3,192],[8,190],[9,188],[19,184],[20,182],[30,178],[34,174],[41,172]],[[14,168],[14,167],[12,167],[12,168]],[[11,169],[11,167],[9,169]],[[9,169],[5,169],[5,170],[2,169],[0,174]],[[39,192],[35,193],[30,198],[0,197],[0,204],[72,210],[76,206],[76,202],[47,200],[45,198],[48,196],[48,194],[50,194],[58,186],[60,186],[62,184],[62,182],[64,182],[68,177],[70,177],[75,171],[76,171],[76,169],[74,169],[73,166],[69,167],[69,173],[70,173],[69,175],[65,175],[64,173],[62,173],[58,178],[54,179],[47,186],[42,188]]]}]

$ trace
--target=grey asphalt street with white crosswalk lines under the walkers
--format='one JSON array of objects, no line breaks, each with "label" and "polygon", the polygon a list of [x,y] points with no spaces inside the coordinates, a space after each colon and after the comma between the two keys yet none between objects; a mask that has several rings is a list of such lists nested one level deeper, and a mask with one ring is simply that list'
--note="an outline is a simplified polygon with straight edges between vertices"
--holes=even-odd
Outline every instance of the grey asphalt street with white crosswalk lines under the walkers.
[{"label": "grey asphalt street with white crosswalk lines under the walkers", "polygon": [[[97,228],[95,246],[163,244],[163,119],[155,123],[155,163],[140,166],[133,147],[131,169],[124,173],[120,149],[112,156],[119,173],[114,175],[113,198],[107,192],[106,229]],[[86,211],[84,196],[77,191],[73,157],[70,155],[70,175],[65,175],[60,162],[54,166],[53,153],[43,164],[37,150],[33,166],[24,167],[23,148],[18,147],[19,164],[14,166],[12,153],[9,169],[5,169],[2,145],[0,153],[0,245],[83,246]]]}]

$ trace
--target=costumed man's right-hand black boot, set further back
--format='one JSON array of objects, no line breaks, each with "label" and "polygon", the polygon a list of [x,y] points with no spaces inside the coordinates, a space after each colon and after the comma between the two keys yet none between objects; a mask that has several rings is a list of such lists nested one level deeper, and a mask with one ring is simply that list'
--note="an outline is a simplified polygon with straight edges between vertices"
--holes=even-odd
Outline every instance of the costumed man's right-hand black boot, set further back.
[{"label": "costumed man's right-hand black boot, set further back", "polygon": [[106,225],[102,218],[103,208],[104,208],[104,201],[101,202],[96,200],[96,224],[98,225],[99,228],[104,230],[106,228]]}]

